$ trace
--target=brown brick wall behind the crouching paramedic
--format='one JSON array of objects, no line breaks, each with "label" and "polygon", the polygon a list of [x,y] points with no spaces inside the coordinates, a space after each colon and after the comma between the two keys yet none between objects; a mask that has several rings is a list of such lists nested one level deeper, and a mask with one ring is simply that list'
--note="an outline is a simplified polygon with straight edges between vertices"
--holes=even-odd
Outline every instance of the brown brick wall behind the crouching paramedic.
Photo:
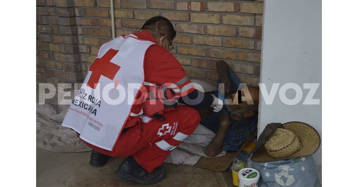
[{"label": "brown brick wall behind the crouching paramedic", "polygon": [[[263,2],[114,0],[116,36],[161,15],[178,32],[174,56],[194,79],[215,85],[216,60],[248,84],[258,83]],[[37,0],[37,77],[81,82],[101,44],[112,39],[110,0]],[[256,84],[257,85],[257,84]]]}]

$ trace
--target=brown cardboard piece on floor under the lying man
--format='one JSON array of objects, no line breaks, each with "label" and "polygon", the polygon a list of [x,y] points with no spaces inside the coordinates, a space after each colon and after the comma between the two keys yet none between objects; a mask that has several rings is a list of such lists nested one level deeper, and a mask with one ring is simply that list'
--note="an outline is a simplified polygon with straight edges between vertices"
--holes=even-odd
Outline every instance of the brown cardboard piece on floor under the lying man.
[{"label": "brown cardboard piece on floor under the lying man", "polygon": [[226,155],[223,157],[214,157],[214,158],[201,157],[194,166],[199,168],[210,169],[212,171],[218,171],[218,172],[226,171],[226,169],[236,158],[237,154],[239,154],[242,148],[245,147],[246,143],[256,136],[257,136],[256,133],[252,133],[248,138],[246,138],[243,141],[244,143],[237,151],[227,152]]}]

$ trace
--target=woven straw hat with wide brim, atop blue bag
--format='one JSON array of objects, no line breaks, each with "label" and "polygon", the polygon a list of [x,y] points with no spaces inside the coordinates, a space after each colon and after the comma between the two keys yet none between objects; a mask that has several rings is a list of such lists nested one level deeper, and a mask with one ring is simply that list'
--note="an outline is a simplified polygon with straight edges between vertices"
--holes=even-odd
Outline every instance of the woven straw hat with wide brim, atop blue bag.
[{"label": "woven straw hat with wide brim, atop blue bag", "polygon": [[308,156],[315,153],[320,146],[321,138],[318,132],[306,123],[288,122],[281,124],[283,128],[277,126],[277,123],[275,125],[274,128],[271,127],[271,131],[275,130],[273,133],[268,134],[270,128],[265,128],[262,132],[264,136],[268,136],[265,144],[256,148],[257,151],[253,153],[253,162],[271,162]]}]

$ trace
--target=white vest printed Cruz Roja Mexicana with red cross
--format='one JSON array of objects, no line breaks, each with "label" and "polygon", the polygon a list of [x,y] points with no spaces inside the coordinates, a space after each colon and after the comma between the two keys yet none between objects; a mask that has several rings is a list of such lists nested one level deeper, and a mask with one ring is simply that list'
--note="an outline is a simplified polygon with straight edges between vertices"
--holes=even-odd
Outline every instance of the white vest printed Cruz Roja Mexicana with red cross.
[{"label": "white vest printed Cruz Roja Mexicana with red cross", "polygon": [[133,34],[119,36],[101,46],[96,60],[63,120],[62,126],[79,137],[112,151],[144,83],[144,54],[154,43]]}]

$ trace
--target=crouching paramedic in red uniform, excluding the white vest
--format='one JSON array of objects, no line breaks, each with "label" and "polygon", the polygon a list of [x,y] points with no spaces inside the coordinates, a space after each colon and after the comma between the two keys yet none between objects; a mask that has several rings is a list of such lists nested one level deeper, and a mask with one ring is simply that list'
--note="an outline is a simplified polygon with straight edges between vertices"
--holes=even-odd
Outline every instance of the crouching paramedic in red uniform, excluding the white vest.
[{"label": "crouching paramedic in red uniform, excluding the white vest", "polygon": [[164,121],[154,119],[142,124],[137,119],[129,120],[112,151],[85,143],[93,149],[92,166],[103,166],[108,157],[127,157],[115,171],[118,178],[126,182],[155,184],[164,178],[165,168],[161,164],[198,126],[200,116],[197,110],[211,106],[214,112],[218,112],[222,101],[195,89],[182,65],[169,52],[173,49],[171,42],[176,31],[168,19],[153,17],[133,34],[138,39],[156,44],[145,52],[144,81],[156,85],[175,83],[177,87],[172,91],[180,95],[179,102],[185,105],[164,113]]}]

